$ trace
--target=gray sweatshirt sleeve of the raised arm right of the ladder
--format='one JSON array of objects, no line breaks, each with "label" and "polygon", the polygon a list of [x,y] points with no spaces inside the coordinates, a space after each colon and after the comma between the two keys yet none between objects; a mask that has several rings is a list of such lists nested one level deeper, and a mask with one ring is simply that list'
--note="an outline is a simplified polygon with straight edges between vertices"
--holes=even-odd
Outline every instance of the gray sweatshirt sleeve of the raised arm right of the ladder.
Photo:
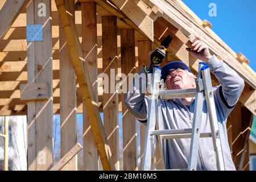
[{"label": "gray sweatshirt sleeve of the raised arm right of the ladder", "polygon": [[220,83],[220,86],[214,90],[214,97],[218,109],[226,118],[241,96],[245,82],[237,72],[228,67],[222,60],[217,59],[215,55],[208,60],[207,64],[210,67],[210,72],[216,76]]}]

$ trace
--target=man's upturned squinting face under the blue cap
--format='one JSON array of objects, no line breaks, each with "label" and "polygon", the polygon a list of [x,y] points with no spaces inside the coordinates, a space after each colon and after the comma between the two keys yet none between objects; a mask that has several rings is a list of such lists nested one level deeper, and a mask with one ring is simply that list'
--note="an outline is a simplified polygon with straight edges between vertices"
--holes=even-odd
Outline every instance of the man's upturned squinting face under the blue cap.
[{"label": "man's upturned squinting face under the blue cap", "polygon": [[170,71],[166,77],[167,89],[189,89],[193,88],[193,77],[184,69]]}]

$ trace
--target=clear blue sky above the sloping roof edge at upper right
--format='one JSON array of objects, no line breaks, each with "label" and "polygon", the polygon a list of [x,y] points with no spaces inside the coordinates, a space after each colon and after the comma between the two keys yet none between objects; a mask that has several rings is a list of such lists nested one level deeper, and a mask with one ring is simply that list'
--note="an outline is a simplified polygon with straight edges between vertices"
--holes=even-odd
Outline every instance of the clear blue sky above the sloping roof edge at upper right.
[{"label": "clear blue sky above the sloping roof edge at upper right", "polygon": [[[200,19],[209,20],[212,30],[234,52],[242,52],[256,72],[256,1],[255,0],[183,0]],[[217,16],[209,16],[209,4],[215,3]]]}]

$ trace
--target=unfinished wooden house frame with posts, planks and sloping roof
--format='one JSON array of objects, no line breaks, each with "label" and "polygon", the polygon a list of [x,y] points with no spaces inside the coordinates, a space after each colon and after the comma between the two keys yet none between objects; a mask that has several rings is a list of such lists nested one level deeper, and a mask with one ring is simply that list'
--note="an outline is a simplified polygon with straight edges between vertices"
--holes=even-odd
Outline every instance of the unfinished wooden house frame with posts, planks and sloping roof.
[{"label": "unfinished wooden house frame with posts, planks and sloping roof", "polygon": [[[30,24],[43,25],[43,41],[27,42]],[[140,138],[143,143],[145,128],[141,126],[141,135],[137,134],[122,94],[103,93],[97,76],[110,75],[110,69],[126,75],[137,72],[146,64],[148,52],[169,34],[174,39],[164,63],[182,60],[196,73],[199,60],[185,48],[200,35],[210,52],[245,80],[227,129],[236,168],[248,169],[256,73],[247,65],[249,60],[226,45],[211,26],[181,0],[0,0],[0,115],[27,115],[28,170],[77,169],[74,156],[82,148],[76,144],[77,113],[84,116],[85,170],[140,169],[136,141]],[[122,112],[122,151],[118,112]],[[64,157],[57,167],[52,163],[55,113],[60,114]]]}]

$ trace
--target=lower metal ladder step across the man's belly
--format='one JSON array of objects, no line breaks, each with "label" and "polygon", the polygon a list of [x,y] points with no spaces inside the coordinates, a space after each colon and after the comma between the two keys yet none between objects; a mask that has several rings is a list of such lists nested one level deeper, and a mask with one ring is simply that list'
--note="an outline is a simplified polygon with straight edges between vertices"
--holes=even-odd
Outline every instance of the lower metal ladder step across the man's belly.
[{"label": "lower metal ladder step across the man's belly", "polygon": [[[151,135],[162,135],[162,139],[191,138],[192,129],[152,130]],[[212,133],[200,133],[201,138],[212,137]]]}]

